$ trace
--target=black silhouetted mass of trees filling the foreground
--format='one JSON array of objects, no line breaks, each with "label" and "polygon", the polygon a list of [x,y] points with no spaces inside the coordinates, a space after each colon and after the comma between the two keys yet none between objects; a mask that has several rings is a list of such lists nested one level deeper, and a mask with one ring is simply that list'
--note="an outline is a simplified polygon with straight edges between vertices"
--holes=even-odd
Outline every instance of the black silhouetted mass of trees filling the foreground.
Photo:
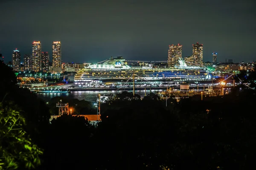
[{"label": "black silhouetted mass of trees filling the foreground", "polygon": [[[242,77],[244,82],[254,81],[252,73],[249,76],[242,73]],[[24,111],[18,115],[25,118],[27,124],[13,128],[22,127],[27,132],[23,137],[32,134],[32,139],[37,139],[37,144],[44,148],[43,163],[39,167],[42,170],[256,169],[256,94],[246,86],[234,88],[225,96],[204,97],[203,101],[200,96],[180,99],[179,102],[168,99],[167,107],[166,100],[161,100],[156,94],[140,99],[132,93],[117,93],[111,95],[107,103],[101,104],[102,121],[94,127],[84,117],[71,115],[47,123],[49,108],[51,111],[55,109],[60,99],[69,102],[80,114],[90,113],[90,102],[53,98],[48,108],[33,94],[16,88],[12,79],[8,83],[12,88],[0,83],[6,89],[4,93],[0,92],[1,99],[7,92],[5,105],[13,101]],[[1,113],[7,115],[7,107],[2,108]],[[81,111],[83,108],[88,110]],[[6,116],[1,116],[1,126],[4,125],[3,117]],[[37,130],[32,133],[35,128]],[[2,139],[2,132],[9,129],[3,126],[1,130]],[[18,130],[10,132],[20,135]],[[27,138],[18,139],[31,142]],[[17,156],[20,150],[23,153],[30,147],[33,151],[32,143],[25,148],[18,139],[10,136],[1,140],[1,154]],[[14,145],[12,149],[9,143]],[[2,151],[4,149],[7,151]],[[2,162],[7,166],[7,160],[3,158]],[[14,159],[17,165],[25,167],[24,161],[18,158]]]}]

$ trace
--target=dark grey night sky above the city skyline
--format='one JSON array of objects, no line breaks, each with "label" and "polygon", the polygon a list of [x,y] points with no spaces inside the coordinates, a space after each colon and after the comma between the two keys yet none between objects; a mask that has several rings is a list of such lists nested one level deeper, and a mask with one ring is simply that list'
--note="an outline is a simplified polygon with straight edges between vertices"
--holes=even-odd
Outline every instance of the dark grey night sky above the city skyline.
[{"label": "dark grey night sky above the city skyline", "polygon": [[256,0],[0,0],[0,49],[11,61],[32,42],[63,62],[99,62],[111,56],[167,60],[170,44],[204,44],[204,61],[256,60]]}]

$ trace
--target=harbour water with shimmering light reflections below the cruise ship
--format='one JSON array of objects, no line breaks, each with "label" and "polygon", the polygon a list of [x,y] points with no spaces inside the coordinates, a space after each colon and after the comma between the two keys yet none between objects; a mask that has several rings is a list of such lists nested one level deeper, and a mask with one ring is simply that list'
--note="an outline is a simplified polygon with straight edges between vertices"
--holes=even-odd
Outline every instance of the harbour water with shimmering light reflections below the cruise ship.
[{"label": "harbour water with shimmering light reflections below the cruise ship", "polygon": [[[156,91],[163,91],[163,90],[151,90],[151,93],[154,93]],[[119,91],[120,92],[120,91]],[[132,92],[132,91],[128,91]],[[110,93],[115,93],[115,91],[71,91],[70,94],[37,94],[40,99],[43,99],[45,101],[49,101],[53,97],[61,96],[66,97],[68,99],[79,99],[79,100],[87,100],[89,102],[96,102],[97,95],[106,95]],[[145,96],[145,90],[138,90],[135,91],[136,94],[139,94],[140,96]],[[146,90],[146,94],[149,94],[150,90]]]}]

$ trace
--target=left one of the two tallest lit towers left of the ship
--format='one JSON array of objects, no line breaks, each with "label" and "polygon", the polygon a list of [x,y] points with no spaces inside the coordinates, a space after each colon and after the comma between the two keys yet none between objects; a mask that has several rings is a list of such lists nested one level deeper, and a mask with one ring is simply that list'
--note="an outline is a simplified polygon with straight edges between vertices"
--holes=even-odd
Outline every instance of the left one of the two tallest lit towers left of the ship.
[{"label": "left one of the two tallest lit towers left of the ship", "polygon": [[41,51],[40,41],[34,41],[32,44],[32,71],[41,70]]}]

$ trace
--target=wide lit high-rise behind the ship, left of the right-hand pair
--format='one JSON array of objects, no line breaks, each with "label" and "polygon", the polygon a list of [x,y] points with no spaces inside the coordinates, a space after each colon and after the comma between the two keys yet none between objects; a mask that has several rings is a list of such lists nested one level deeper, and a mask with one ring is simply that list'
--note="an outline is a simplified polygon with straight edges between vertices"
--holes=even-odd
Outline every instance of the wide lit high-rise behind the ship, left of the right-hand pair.
[{"label": "wide lit high-rise behind the ship, left of the right-hand pair", "polygon": [[175,67],[175,65],[179,65],[179,60],[182,58],[182,45],[169,45],[168,50],[168,66]]}]

